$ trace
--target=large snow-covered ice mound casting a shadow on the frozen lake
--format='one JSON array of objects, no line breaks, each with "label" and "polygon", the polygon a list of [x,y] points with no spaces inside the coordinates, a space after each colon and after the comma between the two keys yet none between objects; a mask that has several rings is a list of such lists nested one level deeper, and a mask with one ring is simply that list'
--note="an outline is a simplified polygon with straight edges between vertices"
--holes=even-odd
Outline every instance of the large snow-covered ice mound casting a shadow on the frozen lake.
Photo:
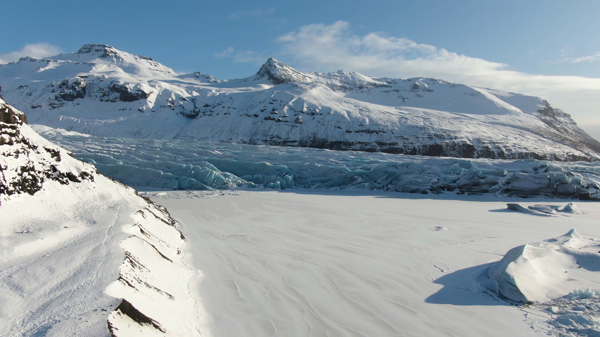
[{"label": "large snow-covered ice mound casting a shadow on the frozen lake", "polygon": [[[547,302],[568,295],[574,285],[600,281],[599,247],[597,240],[584,239],[572,229],[554,239],[510,249],[482,272],[479,281],[507,302]],[[583,293],[596,296],[591,290]]]}]

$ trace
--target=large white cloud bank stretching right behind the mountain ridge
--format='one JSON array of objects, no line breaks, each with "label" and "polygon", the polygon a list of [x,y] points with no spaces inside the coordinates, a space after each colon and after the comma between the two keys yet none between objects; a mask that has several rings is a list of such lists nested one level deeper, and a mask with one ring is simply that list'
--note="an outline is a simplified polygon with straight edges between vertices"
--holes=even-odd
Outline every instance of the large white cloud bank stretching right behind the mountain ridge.
[{"label": "large white cloud bank stretching right behind the mountain ridge", "polygon": [[[313,24],[277,38],[279,55],[303,70],[349,70],[378,77],[433,77],[472,86],[536,95],[575,116],[600,124],[600,79],[546,76],[511,70],[507,64],[449,52],[408,38],[350,33],[350,24]],[[596,56],[590,56],[590,58]],[[583,60],[582,60],[583,61]],[[585,60],[587,61],[587,59]],[[591,61],[591,59],[590,59]]]}]

